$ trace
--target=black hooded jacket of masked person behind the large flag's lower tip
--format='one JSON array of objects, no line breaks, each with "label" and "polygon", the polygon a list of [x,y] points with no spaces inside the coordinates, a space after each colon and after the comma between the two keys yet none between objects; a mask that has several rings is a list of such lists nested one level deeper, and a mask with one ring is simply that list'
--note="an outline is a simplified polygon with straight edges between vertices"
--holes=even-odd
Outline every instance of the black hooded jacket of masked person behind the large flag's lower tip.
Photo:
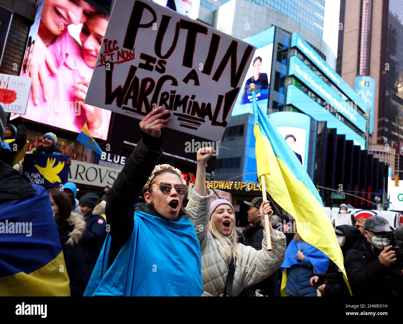
[{"label": "black hooded jacket of masked person behind the large flag's lower tip", "polygon": [[[346,236],[345,243],[341,247],[343,257],[345,257],[347,251],[353,247],[361,236],[361,232],[351,225],[336,226],[336,229],[341,230]],[[314,273],[313,276],[318,276],[319,282],[323,282],[326,278],[327,284],[325,285],[323,296],[350,296],[349,289],[343,279],[343,272],[339,270],[339,267],[332,260],[329,261],[329,267],[326,272]]]}]

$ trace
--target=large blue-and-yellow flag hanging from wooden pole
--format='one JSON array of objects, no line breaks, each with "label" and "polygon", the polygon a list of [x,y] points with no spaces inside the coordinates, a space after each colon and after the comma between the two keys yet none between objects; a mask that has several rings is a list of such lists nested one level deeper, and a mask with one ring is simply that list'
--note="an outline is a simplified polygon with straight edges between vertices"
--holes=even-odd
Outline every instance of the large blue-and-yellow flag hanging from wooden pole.
[{"label": "large blue-and-yellow flag hanging from wooden pole", "polygon": [[351,293],[343,253],[318,190],[266,112],[259,108],[254,90],[252,106],[259,179],[264,175],[266,191],[281,208],[295,218],[297,230],[299,224],[309,224],[308,231],[298,231],[302,239],[326,254],[341,269]]}]

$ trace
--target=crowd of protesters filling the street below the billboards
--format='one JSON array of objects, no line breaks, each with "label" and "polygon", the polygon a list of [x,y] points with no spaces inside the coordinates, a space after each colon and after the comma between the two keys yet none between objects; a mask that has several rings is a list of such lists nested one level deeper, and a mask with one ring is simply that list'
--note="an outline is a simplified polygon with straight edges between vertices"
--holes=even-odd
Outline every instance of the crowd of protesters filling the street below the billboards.
[{"label": "crowd of protesters filling the street below the billboards", "polygon": [[[167,112],[158,108],[141,121],[142,139],[111,188],[78,199],[75,183],[46,191],[23,177],[18,165],[27,150],[26,129],[6,124],[0,108],[0,220],[22,219],[34,201],[36,221],[54,221],[71,296],[350,296],[341,269],[304,241],[292,218],[274,215],[270,201],[245,201],[249,225],[237,230],[233,205],[211,201],[206,187],[211,148],[197,152],[196,183],[185,206],[188,186],[180,170],[157,165]],[[27,153],[60,154],[56,143],[56,135],[46,133]],[[136,204],[141,193],[144,202]],[[391,246],[400,244],[393,232],[381,216],[334,228],[353,295],[402,296],[403,260]]]}]

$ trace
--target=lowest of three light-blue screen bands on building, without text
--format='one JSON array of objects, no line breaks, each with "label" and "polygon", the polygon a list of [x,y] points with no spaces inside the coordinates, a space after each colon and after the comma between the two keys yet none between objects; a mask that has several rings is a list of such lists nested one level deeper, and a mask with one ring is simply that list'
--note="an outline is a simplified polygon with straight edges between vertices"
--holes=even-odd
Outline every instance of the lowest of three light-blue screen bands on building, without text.
[{"label": "lowest of three light-blue screen bands on building, without text", "polygon": [[326,121],[328,128],[335,128],[337,134],[346,135],[347,140],[352,140],[354,145],[359,145],[361,146],[361,150],[365,150],[365,139],[363,137],[355,133],[345,123],[337,119],[336,116],[323,109],[320,104],[312,100],[312,98],[293,84],[287,87],[286,104],[295,106],[315,120]]}]

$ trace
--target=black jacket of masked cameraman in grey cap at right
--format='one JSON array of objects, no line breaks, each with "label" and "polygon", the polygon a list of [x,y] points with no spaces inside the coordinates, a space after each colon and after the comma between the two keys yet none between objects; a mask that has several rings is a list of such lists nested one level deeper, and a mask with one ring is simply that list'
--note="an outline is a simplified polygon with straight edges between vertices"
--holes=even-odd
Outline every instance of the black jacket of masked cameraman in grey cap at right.
[{"label": "black jacket of masked cameraman in grey cap at right", "polygon": [[403,264],[384,266],[378,258],[380,252],[364,235],[347,251],[344,266],[354,297],[402,296]]}]

